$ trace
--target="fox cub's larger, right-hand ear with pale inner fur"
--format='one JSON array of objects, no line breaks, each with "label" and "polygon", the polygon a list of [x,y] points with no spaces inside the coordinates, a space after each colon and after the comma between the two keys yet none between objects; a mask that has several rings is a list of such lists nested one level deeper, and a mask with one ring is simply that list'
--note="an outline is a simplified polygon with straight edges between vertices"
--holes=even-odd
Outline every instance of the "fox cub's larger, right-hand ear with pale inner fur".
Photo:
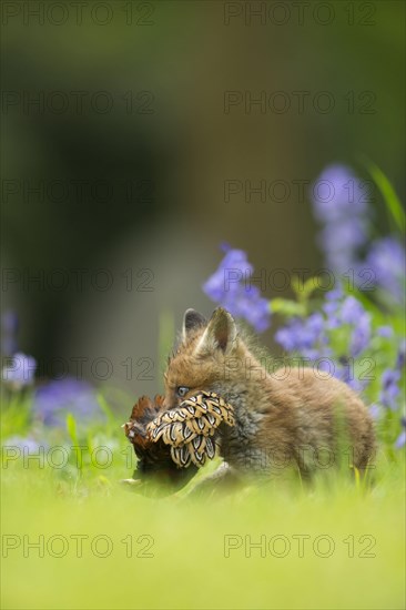
[{"label": "fox cub's larger, right-hand ear with pale inner fur", "polygon": [[232,349],[236,336],[237,331],[233,316],[222,307],[217,307],[209,321],[207,328],[204,331],[195,353],[205,354],[215,349],[227,353]]}]

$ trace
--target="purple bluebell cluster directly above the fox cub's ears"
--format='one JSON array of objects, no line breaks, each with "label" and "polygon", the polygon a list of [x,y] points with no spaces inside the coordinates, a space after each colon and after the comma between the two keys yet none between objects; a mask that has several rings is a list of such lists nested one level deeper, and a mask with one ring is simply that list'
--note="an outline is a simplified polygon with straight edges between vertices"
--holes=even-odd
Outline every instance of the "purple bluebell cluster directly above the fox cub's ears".
[{"label": "purple bluebell cluster directly above the fox cub's ears", "polygon": [[205,294],[232,315],[248,322],[256,332],[266,331],[271,323],[268,301],[251,284],[253,266],[243,250],[224,245],[225,256],[219,268],[203,285]]}]

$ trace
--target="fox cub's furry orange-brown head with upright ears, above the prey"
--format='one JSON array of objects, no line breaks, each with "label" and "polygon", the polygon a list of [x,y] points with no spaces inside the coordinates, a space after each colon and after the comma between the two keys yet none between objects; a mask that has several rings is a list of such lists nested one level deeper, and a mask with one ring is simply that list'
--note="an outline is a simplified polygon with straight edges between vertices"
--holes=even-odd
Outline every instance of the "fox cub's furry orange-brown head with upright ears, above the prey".
[{"label": "fox cub's furry orange-brown head with upright ears, above the prey", "polygon": [[165,379],[165,408],[176,407],[196,390],[219,392],[241,378],[238,363],[246,353],[232,315],[217,307],[207,322],[187,309],[177,350],[169,359]]}]

